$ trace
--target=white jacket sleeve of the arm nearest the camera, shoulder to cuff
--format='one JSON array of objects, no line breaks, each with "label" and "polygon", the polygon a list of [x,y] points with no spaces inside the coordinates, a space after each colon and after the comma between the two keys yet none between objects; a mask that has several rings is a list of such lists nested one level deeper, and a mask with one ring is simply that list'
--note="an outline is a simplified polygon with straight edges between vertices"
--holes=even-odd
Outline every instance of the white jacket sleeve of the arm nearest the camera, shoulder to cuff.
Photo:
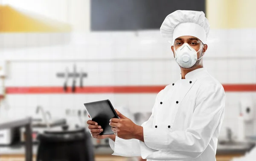
[{"label": "white jacket sleeve of the arm nearest the camera, shoulder to cuff", "polygon": [[[185,131],[157,131],[151,125],[143,126],[144,142],[140,141],[142,158],[153,160],[197,158],[208,146],[217,125],[223,118],[224,104],[225,94],[221,84],[201,86],[197,93],[191,124]],[[168,153],[168,157],[161,158],[165,152]]]}]

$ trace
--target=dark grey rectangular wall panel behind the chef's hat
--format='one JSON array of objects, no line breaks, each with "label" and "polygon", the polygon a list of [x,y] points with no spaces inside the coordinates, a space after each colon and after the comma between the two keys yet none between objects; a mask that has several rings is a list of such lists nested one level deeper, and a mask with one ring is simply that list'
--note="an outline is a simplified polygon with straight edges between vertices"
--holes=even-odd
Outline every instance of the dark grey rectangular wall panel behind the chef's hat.
[{"label": "dark grey rectangular wall panel behind the chef's hat", "polygon": [[204,11],[205,0],[91,0],[91,30],[159,29],[176,11]]}]

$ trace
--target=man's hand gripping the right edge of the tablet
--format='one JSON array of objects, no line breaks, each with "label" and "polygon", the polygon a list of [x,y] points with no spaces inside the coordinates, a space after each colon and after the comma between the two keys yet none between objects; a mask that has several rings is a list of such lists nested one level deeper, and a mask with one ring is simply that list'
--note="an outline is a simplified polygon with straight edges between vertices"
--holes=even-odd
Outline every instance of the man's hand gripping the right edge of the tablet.
[{"label": "man's hand gripping the right edge of the tablet", "polygon": [[116,110],[119,118],[111,118],[110,126],[112,126],[112,131],[116,136],[122,139],[139,139],[143,140],[143,127],[134,124],[129,118],[122,115]]}]

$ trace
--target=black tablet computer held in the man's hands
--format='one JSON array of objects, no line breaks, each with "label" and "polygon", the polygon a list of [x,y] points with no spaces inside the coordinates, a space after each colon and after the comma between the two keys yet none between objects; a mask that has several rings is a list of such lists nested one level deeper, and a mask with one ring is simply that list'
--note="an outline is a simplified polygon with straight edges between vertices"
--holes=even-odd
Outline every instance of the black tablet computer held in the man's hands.
[{"label": "black tablet computer held in the man's hands", "polygon": [[109,100],[84,103],[84,106],[92,121],[102,126],[103,132],[100,135],[114,134],[109,125],[109,120],[119,117]]}]

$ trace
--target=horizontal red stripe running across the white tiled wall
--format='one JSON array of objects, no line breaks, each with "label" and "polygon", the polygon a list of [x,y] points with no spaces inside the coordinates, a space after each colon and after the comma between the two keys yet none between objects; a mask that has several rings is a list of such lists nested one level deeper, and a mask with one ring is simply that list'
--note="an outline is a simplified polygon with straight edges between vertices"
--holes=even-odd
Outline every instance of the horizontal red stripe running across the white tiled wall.
[{"label": "horizontal red stripe running across the white tiled wall", "polygon": [[[85,86],[76,87],[76,93],[158,93],[163,86]],[[256,84],[223,84],[225,92],[256,92]],[[7,94],[64,94],[72,93],[71,87],[6,87]]]}]

